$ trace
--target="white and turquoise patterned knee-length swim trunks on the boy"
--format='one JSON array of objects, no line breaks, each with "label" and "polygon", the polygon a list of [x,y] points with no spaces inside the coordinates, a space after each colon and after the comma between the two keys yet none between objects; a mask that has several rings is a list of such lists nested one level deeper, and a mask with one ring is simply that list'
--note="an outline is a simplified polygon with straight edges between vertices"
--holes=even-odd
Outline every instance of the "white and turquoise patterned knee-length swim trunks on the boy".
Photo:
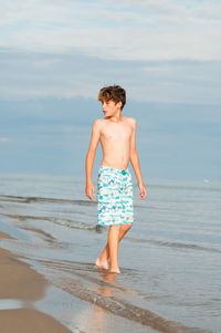
[{"label": "white and turquoise patterned knee-length swim trunks on the boy", "polygon": [[101,166],[97,175],[98,225],[134,222],[133,183],[128,168]]}]

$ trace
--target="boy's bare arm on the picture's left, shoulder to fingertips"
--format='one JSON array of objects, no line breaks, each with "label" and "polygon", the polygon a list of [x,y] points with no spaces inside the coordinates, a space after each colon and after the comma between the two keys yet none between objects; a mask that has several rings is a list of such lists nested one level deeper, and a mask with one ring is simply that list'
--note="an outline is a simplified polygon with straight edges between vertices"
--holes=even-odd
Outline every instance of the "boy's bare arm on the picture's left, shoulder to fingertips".
[{"label": "boy's bare arm on the picture's left, shoulder to fingertips", "polygon": [[95,189],[94,185],[92,183],[92,170],[93,170],[93,164],[94,164],[94,157],[96,153],[96,148],[99,142],[101,137],[101,119],[96,119],[93,124],[92,127],[92,136],[91,136],[91,143],[90,143],[90,148],[86,154],[86,163],[85,163],[85,168],[86,168],[86,188],[85,192],[86,196],[93,200],[92,194],[95,195]]}]

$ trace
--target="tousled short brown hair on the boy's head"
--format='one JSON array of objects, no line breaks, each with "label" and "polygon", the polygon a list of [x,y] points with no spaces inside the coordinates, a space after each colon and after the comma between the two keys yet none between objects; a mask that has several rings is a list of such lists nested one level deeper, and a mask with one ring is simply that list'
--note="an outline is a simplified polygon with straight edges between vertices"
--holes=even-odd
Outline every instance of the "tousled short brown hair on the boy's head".
[{"label": "tousled short brown hair on the boy's head", "polygon": [[98,101],[104,102],[104,101],[114,101],[115,104],[118,102],[122,102],[122,110],[126,104],[126,92],[123,87],[119,85],[110,85],[110,86],[105,86],[101,89],[99,94],[98,94]]}]

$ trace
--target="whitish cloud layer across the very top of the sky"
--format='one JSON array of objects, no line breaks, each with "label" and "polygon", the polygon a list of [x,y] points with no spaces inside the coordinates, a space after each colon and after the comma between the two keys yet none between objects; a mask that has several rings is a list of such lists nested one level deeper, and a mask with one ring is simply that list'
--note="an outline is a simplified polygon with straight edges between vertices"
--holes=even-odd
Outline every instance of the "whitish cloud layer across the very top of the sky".
[{"label": "whitish cloud layer across the very top of the sky", "polygon": [[118,60],[221,60],[221,6],[164,0],[1,4],[2,48]]}]

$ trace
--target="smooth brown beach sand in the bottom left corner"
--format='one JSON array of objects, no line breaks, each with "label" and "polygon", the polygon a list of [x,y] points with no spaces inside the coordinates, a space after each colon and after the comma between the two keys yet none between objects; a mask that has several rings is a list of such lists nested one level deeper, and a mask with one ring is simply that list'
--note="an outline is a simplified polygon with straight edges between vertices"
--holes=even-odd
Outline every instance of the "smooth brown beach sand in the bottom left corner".
[{"label": "smooth brown beach sand in the bottom left corner", "polygon": [[[12,239],[3,232],[0,232],[0,238]],[[4,249],[0,249],[0,304],[7,301],[9,305],[10,300],[12,308],[19,301],[22,304],[22,309],[7,310],[1,304],[1,332],[71,332],[52,316],[34,309],[34,302],[44,296],[45,289],[49,287],[43,275],[20,261],[17,254]]]}]

